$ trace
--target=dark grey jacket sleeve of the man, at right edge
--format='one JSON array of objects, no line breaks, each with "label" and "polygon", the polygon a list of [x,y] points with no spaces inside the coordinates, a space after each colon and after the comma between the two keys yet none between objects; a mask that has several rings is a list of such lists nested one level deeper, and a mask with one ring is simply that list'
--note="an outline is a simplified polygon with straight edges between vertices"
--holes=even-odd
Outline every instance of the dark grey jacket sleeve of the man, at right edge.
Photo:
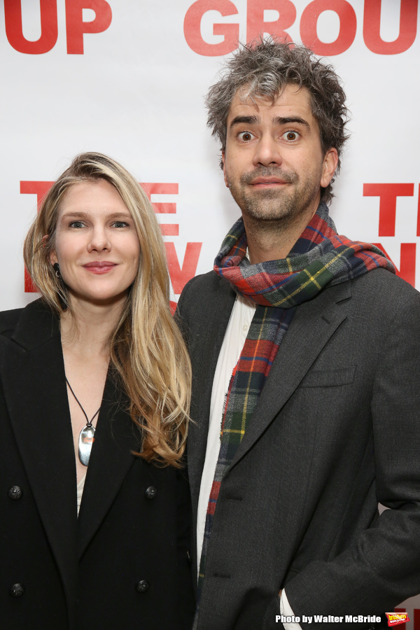
[{"label": "dark grey jacket sleeve of the man, at right edge", "polygon": [[344,552],[287,582],[295,615],[374,615],[420,592],[419,294],[397,309],[383,339],[371,414],[377,500],[388,509]]}]

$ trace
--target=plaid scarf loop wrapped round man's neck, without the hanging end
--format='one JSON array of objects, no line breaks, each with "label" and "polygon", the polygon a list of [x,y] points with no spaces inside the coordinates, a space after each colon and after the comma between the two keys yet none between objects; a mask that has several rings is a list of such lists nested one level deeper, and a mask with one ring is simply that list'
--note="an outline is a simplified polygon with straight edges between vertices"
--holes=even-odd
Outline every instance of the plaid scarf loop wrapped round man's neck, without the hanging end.
[{"label": "plaid scarf loop wrapped round man's neck, without the hanging end", "polygon": [[282,260],[251,265],[246,258],[246,233],[240,218],[225,237],[214,271],[232,283],[237,293],[262,306],[290,309],[314,297],[328,283],[352,280],[377,267],[395,273],[379,248],[337,235],[328,208],[321,202],[300,236],[307,251]]}]

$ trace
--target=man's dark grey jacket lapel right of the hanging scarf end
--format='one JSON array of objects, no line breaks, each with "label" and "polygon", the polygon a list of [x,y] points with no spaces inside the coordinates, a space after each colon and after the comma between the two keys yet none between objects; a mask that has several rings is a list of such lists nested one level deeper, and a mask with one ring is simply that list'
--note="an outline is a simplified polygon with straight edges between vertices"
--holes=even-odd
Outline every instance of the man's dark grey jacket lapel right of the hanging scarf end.
[{"label": "man's dark grey jacket lapel right of the hanging scarf end", "polygon": [[316,299],[297,307],[231,468],[286,404],[323,346],[344,321],[346,311],[339,308],[338,302],[349,297],[351,283],[346,282],[323,290]]}]

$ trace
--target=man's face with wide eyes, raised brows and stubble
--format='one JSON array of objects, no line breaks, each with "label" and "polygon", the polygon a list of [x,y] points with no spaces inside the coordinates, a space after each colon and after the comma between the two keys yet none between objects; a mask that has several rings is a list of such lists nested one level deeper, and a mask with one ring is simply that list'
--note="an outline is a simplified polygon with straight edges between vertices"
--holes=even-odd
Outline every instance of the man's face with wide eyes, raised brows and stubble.
[{"label": "man's face with wide eyes, raised brows and stubble", "polygon": [[272,104],[241,100],[228,114],[223,172],[244,218],[278,221],[316,211],[321,186],[328,186],[337,151],[324,155],[305,87],[287,85]]}]

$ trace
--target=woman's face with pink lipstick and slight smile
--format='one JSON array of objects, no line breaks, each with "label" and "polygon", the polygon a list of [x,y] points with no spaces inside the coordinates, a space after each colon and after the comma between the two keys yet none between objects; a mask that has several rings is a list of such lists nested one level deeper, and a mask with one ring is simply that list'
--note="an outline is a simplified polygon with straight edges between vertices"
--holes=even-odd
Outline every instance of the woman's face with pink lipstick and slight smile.
[{"label": "woman's face with pink lipstick and slight smile", "polygon": [[139,253],[134,221],[116,188],[104,179],[69,188],[50,261],[58,262],[72,302],[124,301],[137,275]]}]

